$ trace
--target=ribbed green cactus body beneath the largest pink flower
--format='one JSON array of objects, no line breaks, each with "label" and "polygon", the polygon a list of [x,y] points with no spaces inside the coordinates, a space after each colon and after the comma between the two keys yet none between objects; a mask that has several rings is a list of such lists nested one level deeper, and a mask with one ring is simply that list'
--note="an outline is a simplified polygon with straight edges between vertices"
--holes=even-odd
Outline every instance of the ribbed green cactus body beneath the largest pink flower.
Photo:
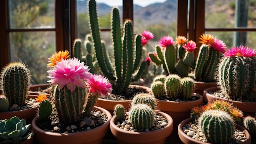
[{"label": "ribbed green cactus body beneath the largest pink flower", "polygon": [[52,87],[52,94],[55,97],[59,121],[69,124],[79,121],[83,114],[85,96],[88,96],[86,89],[76,86],[71,92],[66,85],[62,89],[58,89],[58,85],[55,85]]}]

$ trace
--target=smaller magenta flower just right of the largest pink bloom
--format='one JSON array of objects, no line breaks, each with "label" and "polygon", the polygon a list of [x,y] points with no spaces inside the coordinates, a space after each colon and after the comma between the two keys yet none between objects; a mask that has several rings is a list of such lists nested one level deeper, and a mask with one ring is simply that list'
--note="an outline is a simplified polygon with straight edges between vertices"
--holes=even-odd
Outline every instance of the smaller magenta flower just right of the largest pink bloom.
[{"label": "smaller magenta flower just right of the largest pink bloom", "polygon": [[89,91],[92,92],[92,96],[101,94],[107,96],[107,92],[111,92],[112,85],[109,83],[108,79],[100,74],[93,74],[90,79],[87,80],[87,85],[90,87]]}]

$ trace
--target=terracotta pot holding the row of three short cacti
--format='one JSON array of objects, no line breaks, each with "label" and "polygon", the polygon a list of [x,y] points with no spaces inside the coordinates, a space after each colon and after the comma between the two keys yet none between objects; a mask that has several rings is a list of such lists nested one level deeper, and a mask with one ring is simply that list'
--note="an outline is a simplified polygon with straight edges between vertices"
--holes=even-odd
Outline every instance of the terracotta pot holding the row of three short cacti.
[{"label": "terracotta pot holding the row of three short cacti", "polygon": [[200,94],[197,94],[199,97],[198,100],[186,101],[186,102],[175,102],[175,101],[166,101],[159,100],[157,101],[157,109],[167,113],[173,118],[173,133],[167,137],[168,141],[171,142],[181,142],[178,138],[177,127],[182,120],[190,116],[191,108],[194,106],[199,106],[203,104],[203,97]]}]

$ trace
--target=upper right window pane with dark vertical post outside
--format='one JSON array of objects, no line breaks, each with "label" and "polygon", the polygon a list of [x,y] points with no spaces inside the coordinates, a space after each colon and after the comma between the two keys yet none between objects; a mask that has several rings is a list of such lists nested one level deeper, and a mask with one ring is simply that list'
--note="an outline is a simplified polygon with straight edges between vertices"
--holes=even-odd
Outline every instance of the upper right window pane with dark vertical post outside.
[{"label": "upper right window pane with dark vertical post outside", "polygon": [[206,0],[206,28],[256,28],[255,0]]}]

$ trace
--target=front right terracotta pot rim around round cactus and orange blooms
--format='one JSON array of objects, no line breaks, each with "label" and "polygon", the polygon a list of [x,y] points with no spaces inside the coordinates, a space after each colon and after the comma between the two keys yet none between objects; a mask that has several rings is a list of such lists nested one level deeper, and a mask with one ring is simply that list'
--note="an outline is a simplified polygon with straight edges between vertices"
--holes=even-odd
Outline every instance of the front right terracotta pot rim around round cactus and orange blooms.
[{"label": "front right terracotta pot rim around round cactus and orange blooms", "polygon": [[[186,135],[186,133],[183,132],[183,127],[187,122],[190,122],[191,118],[186,118],[185,120],[183,120],[182,122],[180,122],[179,126],[178,126],[178,133],[179,133],[179,137],[180,140],[182,140],[182,142],[184,144],[209,144],[207,142],[201,142],[198,140],[193,139],[192,137]],[[245,142],[241,142],[239,144],[251,144],[251,135],[249,133],[249,131],[247,131],[247,129],[245,129],[244,127],[240,126],[240,125],[236,125],[236,129],[239,129],[240,131],[244,131],[246,134],[247,139],[245,140]]]}]

